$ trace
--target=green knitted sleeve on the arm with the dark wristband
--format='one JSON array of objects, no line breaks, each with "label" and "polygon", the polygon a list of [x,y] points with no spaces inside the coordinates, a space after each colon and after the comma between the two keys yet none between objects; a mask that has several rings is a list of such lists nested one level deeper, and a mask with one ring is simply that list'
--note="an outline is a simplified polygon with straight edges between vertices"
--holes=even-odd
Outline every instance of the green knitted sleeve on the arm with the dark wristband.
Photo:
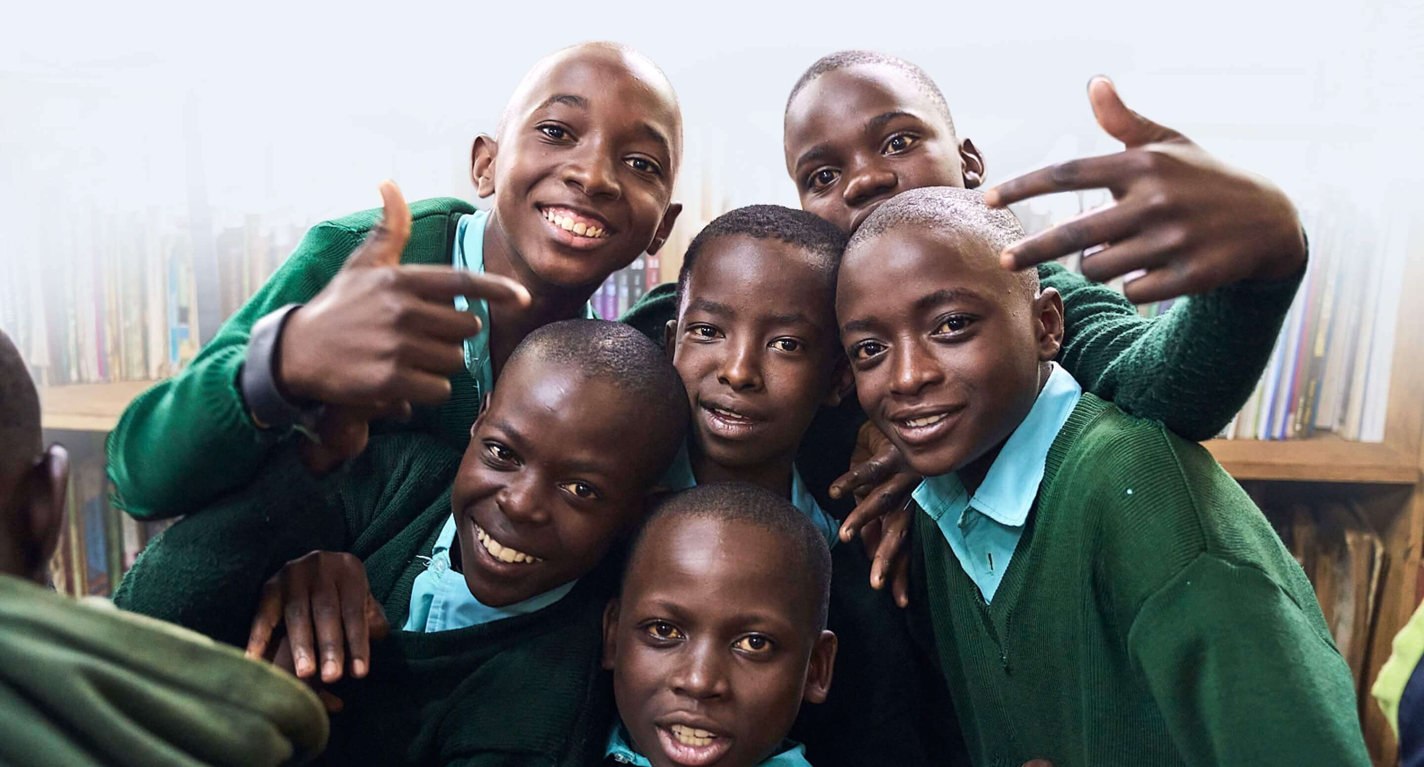
[{"label": "green knitted sleeve on the arm with the dark wristband", "polygon": [[316,296],[362,239],[346,226],[313,226],[182,373],[128,406],[107,444],[114,505],[141,518],[174,517],[252,478],[289,434],[258,428],[244,406],[238,371],[252,326]]}]

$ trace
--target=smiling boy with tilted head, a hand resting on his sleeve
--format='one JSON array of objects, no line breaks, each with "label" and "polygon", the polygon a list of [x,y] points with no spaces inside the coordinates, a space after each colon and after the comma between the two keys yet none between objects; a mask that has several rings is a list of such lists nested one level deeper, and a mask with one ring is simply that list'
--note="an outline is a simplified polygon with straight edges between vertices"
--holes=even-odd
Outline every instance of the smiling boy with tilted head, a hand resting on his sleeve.
[{"label": "smiling boy with tilted head, a hand resting on his sleeve", "polygon": [[289,455],[151,542],[115,601],[275,649],[337,712],[330,764],[587,764],[611,723],[604,561],[686,421],[652,342],[553,323],[510,356],[463,460],[419,433],[332,478]]}]

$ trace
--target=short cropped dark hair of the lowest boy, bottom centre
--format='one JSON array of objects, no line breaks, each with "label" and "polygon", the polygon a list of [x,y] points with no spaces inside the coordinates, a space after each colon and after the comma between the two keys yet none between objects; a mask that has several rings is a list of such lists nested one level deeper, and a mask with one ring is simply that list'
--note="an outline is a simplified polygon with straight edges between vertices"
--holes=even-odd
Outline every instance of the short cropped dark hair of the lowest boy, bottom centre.
[{"label": "short cropped dark hair of the lowest boy, bottom centre", "polygon": [[659,519],[678,524],[701,518],[742,522],[770,531],[783,541],[785,578],[805,578],[816,595],[816,630],[826,628],[830,609],[830,546],[806,515],[790,501],[748,482],[711,482],[656,498],[628,551],[628,564],[638,558],[638,548]]}]

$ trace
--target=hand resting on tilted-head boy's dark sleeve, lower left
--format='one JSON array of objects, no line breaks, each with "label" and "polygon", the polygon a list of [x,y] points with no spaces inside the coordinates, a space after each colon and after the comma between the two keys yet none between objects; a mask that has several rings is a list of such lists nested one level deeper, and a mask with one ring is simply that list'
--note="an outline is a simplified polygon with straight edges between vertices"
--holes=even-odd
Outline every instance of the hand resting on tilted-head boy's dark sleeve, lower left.
[{"label": "hand resting on tilted-head boy's dark sleeve, lower left", "polygon": [[[262,599],[248,635],[248,657],[266,657],[272,635],[286,636],[275,662],[298,679],[332,684],[370,669],[370,640],[390,632],[386,613],[370,593],[366,568],[343,552],[313,551],[292,559],[262,586]],[[320,676],[318,672],[320,652]]]}]

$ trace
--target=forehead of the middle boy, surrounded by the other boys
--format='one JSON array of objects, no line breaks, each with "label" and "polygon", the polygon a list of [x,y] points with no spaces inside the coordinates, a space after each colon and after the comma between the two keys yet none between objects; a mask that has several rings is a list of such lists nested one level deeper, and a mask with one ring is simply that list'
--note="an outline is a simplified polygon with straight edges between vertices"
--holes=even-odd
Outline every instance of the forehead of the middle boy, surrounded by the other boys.
[{"label": "forehead of the middle boy, surrounded by the other boys", "polygon": [[[688,299],[706,299],[762,314],[802,312],[813,320],[829,305],[832,280],[824,256],[775,238],[716,238],[703,246],[688,276]],[[684,302],[686,303],[686,300]]]}]

